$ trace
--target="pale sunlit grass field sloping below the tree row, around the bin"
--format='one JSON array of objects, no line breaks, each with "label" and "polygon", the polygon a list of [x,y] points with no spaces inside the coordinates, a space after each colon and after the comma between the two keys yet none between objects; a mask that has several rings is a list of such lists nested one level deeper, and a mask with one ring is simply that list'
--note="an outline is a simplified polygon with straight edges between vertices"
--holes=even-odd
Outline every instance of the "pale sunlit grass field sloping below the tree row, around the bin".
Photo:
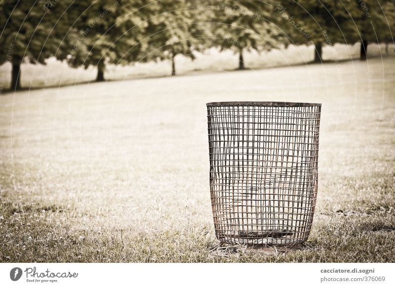
[{"label": "pale sunlit grass field sloping below the tree row, around the bin", "polygon": [[[1,262],[394,262],[395,58],[0,98]],[[322,103],[305,246],[218,247],[205,103]]]}]

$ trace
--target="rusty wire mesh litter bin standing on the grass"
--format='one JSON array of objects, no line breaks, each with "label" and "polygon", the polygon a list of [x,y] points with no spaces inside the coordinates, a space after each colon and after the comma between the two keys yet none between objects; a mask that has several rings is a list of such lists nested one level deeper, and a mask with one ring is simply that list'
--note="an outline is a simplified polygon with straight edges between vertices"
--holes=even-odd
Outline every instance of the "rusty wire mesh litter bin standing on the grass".
[{"label": "rusty wire mesh litter bin standing on the grass", "polygon": [[321,104],[208,103],[210,193],[229,244],[307,240],[318,187]]}]

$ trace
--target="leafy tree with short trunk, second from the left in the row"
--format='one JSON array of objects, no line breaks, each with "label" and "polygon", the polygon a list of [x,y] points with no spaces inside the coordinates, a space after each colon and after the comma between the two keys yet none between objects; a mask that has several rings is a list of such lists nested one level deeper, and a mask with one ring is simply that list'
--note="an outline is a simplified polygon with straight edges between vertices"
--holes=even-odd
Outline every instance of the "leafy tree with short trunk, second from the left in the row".
[{"label": "leafy tree with short trunk, second from the left in the row", "polygon": [[69,65],[95,66],[96,81],[104,81],[106,64],[128,64],[137,59],[146,20],[143,0],[93,0],[76,5],[81,11],[76,23],[79,36],[72,40]]}]

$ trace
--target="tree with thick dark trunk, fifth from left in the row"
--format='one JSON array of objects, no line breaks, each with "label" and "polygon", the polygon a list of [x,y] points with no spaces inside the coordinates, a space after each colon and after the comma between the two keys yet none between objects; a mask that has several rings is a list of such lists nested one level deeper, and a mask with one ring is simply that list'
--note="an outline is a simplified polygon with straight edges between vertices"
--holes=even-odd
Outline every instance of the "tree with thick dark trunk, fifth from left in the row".
[{"label": "tree with thick dark trunk, fifth from left in the row", "polygon": [[[322,61],[324,44],[353,41],[356,29],[343,3],[349,0],[284,0],[275,10],[293,44],[313,44],[314,62]],[[351,37],[351,38],[350,38]]]}]

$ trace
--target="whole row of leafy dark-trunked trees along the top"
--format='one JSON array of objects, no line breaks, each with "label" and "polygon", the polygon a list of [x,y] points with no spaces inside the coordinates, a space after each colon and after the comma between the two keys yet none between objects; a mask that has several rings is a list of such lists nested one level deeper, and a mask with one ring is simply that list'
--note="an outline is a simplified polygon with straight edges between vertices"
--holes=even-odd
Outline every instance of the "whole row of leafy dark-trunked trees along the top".
[{"label": "whole row of leafy dark-trunked trees along the top", "polygon": [[[23,61],[45,64],[54,56],[72,67],[125,65],[177,55],[233,50],[243,53],[294,45],[322,47],[360,42],[394,43],[391,0],[3,0],[0,2],[0,65],[11,63],[11,88],[20,89]],[[387,51],[388,52],[388,51]]]}]

